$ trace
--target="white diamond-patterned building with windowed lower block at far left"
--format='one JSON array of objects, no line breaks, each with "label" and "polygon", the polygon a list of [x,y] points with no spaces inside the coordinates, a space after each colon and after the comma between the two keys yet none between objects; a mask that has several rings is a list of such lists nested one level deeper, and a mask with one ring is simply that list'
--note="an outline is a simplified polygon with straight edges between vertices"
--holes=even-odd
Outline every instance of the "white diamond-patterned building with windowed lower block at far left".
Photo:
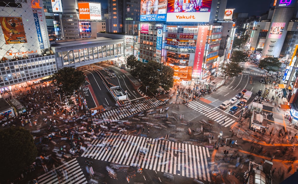
[{"label": "white diamond-patterned building with windowed lower block at far left", "polygon": [[1,4],[0,90],[29,86],[57,72],[40,1]]}]

